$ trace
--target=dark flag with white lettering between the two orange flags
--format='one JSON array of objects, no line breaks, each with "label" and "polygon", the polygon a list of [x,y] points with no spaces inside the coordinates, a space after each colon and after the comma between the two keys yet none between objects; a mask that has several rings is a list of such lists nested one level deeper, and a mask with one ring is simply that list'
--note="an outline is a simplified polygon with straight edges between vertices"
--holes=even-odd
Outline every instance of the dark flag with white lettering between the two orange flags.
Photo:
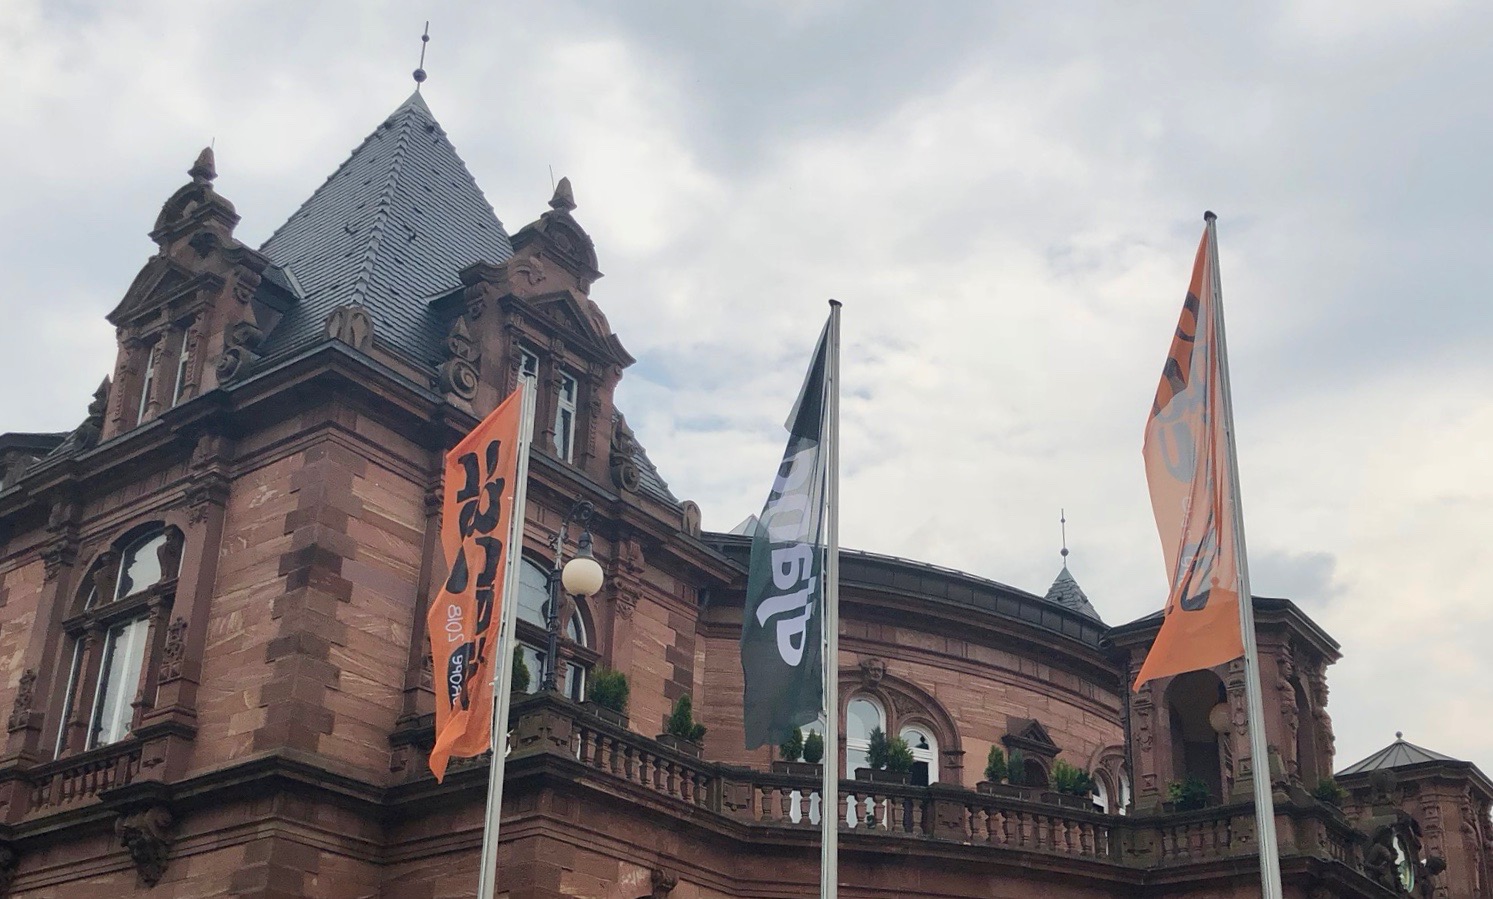
[{"label": "dark flag with white lettering between the two orange flags", "polygon": [[824,455],[829,326],[785,427],[788,448],[751,541],[742,671],[746,748],[781,742],[824,706]]}]

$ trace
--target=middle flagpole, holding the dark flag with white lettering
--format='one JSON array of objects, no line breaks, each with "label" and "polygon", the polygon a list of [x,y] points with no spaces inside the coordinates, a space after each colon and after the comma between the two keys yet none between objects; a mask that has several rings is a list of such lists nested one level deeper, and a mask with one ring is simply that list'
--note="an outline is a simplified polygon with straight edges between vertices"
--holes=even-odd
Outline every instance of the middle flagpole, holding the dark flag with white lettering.
[{"label": "middle flagpole, holding the dark flag with white lettering", "polygon": [[829,363],[824,370],[824,783],[820,787],[820,899],[839,896],[839,300],[830,300]]}]

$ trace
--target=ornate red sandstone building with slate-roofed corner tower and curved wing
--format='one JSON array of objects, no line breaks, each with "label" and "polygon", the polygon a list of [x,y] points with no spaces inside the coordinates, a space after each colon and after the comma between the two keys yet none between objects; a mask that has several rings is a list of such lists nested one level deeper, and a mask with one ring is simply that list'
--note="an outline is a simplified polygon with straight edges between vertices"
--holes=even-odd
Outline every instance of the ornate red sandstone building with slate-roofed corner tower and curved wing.
[{"label": "ornate red sandstone building with slate-roofed corner tower and curved wing", "polygon": [[[567,181],[509,236],[418,94],[258,249],[211,151],[188,176],[107,315],[118,355],[87,418],[0,436],[0,898],[475,893],[487,765],[428,772],[424,612],[443,452],[523,372],[540,385],[532,682],[500,895],[815,896],[835,814],[847,898],[1242,899],[1265,771],[1288,896],[1493,896],[1493,784],[1471,763],[1387,750],[1321,799],[1339,647],[1299,608],[1256,600],[1256,765],[1239,668],[1130,693],[1157,618],[1108,627],[1066,567],[1036,596],[845,551],[851,723],[830,751],[854,769],[876,724],[915,766],[848,771],[821,803],[812,766],[742,748],[748,541],[702,533],[615,408],[633,358],[591,299]],[[543,575],[576,500],[606,581],[564,602],[545,659]],[[603,668],[627,678],[621,717],[584,702]],[[700,754],[657,739],[685,696]],[[1008,784],[984,783],[993,748],[1020,765]],[[1057,793],[1063,766],[1094,796]]]}]

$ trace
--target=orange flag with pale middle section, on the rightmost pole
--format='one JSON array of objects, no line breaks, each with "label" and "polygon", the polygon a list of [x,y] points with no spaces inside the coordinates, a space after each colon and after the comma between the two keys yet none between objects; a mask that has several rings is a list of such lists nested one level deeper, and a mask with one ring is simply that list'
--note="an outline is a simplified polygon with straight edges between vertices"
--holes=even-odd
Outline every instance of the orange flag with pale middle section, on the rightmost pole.
[{"label": "orange flag with pale middle section, on the rightmost pole", "polygon": [[1212,668],[1244,656],[1239,630],[1238,485],[1224,433],[1217,317],[1218,249],[1203,233],[1193,282],[1145,423],[1145,478],[1171,593],[1166,618],[1135,679]]}]

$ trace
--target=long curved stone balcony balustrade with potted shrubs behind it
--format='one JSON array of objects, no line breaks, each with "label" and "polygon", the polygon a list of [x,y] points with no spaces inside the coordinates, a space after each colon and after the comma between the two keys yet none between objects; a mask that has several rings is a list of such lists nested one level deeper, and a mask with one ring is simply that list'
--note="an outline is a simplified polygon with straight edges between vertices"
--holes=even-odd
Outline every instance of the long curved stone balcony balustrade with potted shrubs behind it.
[{"label": "long curved stone balcony balustrade with potted shrubs behind it", "polygon": [[[599,777],[755,827],[817,829],[820,780],[703,762],[603,721],[558,696],[533,696],[512,718],[512,760],[552,753]],[[1121,817],[935,784],[841,781],[833,814],[847,833],[917,838],[1044,853],[1130,868],[1253,856],[1250,803],[1153,817]],[[1284,854],[1314,856],[1362,872],[1362,836],[1333,809],[1280,803]]]}]

